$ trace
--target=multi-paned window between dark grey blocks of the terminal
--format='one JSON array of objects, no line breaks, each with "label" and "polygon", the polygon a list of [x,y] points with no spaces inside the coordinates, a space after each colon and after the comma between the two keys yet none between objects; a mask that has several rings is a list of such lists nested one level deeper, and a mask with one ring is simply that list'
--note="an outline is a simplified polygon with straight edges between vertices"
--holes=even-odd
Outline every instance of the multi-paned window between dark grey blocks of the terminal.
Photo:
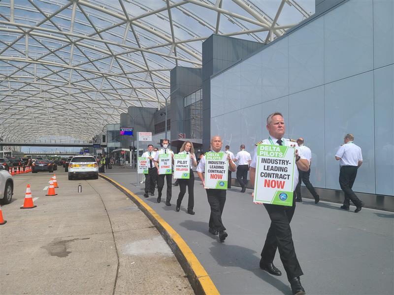
[{"label": "multi-paned window between dark grey blocks of the terminal", "polygon": [[186,138],[202,137],[202,89],[184,98],[184,130]]}]

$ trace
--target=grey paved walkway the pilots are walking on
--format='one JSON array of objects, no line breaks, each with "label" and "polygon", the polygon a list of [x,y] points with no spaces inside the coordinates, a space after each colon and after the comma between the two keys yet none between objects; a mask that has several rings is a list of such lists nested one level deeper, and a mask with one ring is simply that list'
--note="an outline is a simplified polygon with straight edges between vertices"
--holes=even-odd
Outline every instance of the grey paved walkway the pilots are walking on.
[{"label": "grey paved walkway the pilots are walking on", "polygon": [[[144,199],[143,187],[136,186],[135,170],[114,168],[105,176],[141,197],[188,243],[221,294],[291,294],[284,268],[276,254],[274,265],[282,276],[259,268],[260,253],[269,218],[264,207],[252,202],[251,190],[227,192],[223,222],[224,243],[208,233],[209,205],[201,182],[195,182],[196,215],[189,215],[187,193],[180,212],[175,211],[179,186],[172,187],[172,206],[154,197]],[[140,176],[141,179],[141,176]],[[362,208],[355,213],[339,204],[311,199],[297,203],[291,227],[297,258],[304,275],[307,294],[394,294],[394,213]]]}]

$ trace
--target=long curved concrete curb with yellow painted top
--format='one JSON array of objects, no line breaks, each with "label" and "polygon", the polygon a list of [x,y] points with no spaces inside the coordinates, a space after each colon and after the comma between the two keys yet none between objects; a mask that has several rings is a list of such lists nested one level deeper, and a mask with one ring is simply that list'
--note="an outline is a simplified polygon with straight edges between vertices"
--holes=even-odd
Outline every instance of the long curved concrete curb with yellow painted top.
[{"label": "long curved concrete curb with yellow painted top", "polygon": [[219,291],[216,289],[204,267],[194,255],[192,249],[190,249],[184,239],[155,210],[115,180],[101,174],[99,174],[99,176],[111,182],[119,190],[123,191],[138,206],[138,208],[145,213],[171,248],[179,264],[187,274],[190,285],[197,295],[219,294]]}]

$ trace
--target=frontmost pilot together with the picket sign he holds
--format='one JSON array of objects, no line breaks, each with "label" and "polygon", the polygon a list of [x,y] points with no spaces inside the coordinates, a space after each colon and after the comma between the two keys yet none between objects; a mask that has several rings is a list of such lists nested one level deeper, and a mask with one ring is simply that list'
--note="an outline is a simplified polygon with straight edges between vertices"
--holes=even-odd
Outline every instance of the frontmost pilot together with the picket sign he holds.
[{"label": "frontmost pilot together with the picket sign he holds", "polygon": [[308,171],[309,163],[295,140],[283,138],[285,121],[282,114],[269,115],[266,128],[269,138],[256,144],[249,172],[250,181],[255,186],[254,202],[260,203],[257,200],[263,200],[261,203],[271,219],[260,268],[273,275],[282,274],[272,263],[278,248],[293,294],[302,295],[305,290],[299,276],[303,273],[296,257],[290,221],[296,209],[293,194],[298,183],[297,168]]}]

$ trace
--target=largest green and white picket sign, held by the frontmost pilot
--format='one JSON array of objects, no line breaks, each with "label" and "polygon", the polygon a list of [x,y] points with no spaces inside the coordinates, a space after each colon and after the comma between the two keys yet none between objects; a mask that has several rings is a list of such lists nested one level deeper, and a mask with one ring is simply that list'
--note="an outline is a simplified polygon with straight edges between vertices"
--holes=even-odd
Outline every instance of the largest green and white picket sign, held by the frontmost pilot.
[{"label": "largest green and white picket sign, held by the frontmost pilot", "polygon": [[293,205],[295,147],[259,145],[253,202]]}]

